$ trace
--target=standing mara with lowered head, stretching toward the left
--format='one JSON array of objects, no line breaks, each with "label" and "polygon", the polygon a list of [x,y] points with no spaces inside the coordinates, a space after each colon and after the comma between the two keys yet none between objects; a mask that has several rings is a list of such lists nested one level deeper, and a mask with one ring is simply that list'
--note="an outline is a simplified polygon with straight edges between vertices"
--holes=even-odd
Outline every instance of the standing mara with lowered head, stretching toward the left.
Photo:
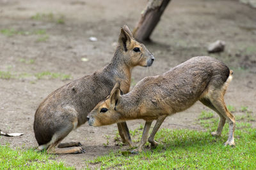
[{"label": "standing mara with lowered head, stretching toward the left", "polygon": [[[164,74],[144,78],[123,96],[116,83],[109,99],[97,104],[89,113],[89,124],[100,126],[138,118],[146,120],[139,146],[141,151],[153,120],[157,120],[157,123],[148,141],[156,146],[154,135],[164,118],[201,101],[220,115],[219,127],[212,135],[220,136],[227,119],[230,132],[225,145],[235,145],[235,118],[227,110],[223,98],[231,78],[232,71],[223,62],[211,57],[193,57]],[[107,108],[108,111],[100,113],[102,108]]]}]

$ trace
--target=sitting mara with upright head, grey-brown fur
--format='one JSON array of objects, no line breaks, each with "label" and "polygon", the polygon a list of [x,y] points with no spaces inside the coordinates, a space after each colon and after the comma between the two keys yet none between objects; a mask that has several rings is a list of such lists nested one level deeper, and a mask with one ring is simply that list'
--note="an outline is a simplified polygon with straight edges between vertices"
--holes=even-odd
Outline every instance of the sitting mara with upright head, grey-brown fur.
[{"label": "sitting mara with upright head, grey-brown fur", "polygon": [[[135,47],[140,48],[140,52],[135,52]],[[82,153],[81,147],[64,148],[79,146],[80,143],[60,144],[60,141],[86,122],[88,113],[109,95],[116,82],[121,83],[120,89],[124,93],[129,92],[134,66],[151,66],[153,61],[152,53],[138,43],[124,25],[114,57],[108,66],[60,87],[40,104],[34,121],[35,138],[40,145],[38,150],[46,148],[48,153]],[[132,145],[125,122],[118,123],[118,130],[123,141]]]}]

